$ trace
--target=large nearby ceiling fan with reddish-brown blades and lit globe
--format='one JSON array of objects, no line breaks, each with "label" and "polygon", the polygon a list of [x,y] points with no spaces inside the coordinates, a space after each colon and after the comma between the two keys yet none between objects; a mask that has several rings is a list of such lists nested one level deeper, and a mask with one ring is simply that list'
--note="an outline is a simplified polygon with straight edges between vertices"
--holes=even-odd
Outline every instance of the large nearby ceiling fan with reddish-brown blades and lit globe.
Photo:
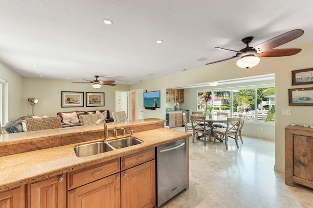
[{"label": "large nearby ceiling fan with reddish-brown blades and lit globe", "polygon": [[249,43],[252,41],[253,37],[243,38],[241,41],[246,44],[246,48],[241,49],[240,51],[215,47],[216,49],[223,51],[231,51],[237,52],[235,56],[224,58],[222,60],[213,61],[208,64],[218,63],[221,61],[229,60],[235,57],[240,58],[237,61],[237,66],[241,68],[251,68],[256,66],[260,62],[259,57],[285,57],[292,56],[299,53],[302,49],[300,48],[287,48],[287,49],[273,49],[278,46],[281,46],[285,43],[290,42],[296,38],[299,38],[304,33],[301,29],[291,30],[282,35],[276,36],[275,38],[271,38],[257,46],[249,47]]}]

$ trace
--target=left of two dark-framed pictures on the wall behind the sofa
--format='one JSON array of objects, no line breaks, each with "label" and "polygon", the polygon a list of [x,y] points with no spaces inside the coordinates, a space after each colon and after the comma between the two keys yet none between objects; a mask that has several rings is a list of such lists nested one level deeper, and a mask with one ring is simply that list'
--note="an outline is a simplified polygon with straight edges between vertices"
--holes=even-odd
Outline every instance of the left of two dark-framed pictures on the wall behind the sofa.
[{"label": "left of two dark-framed pictures on the wall behind the sofa", "polygon": [[84,107],[84,92],[61,91],[61,107]]}]

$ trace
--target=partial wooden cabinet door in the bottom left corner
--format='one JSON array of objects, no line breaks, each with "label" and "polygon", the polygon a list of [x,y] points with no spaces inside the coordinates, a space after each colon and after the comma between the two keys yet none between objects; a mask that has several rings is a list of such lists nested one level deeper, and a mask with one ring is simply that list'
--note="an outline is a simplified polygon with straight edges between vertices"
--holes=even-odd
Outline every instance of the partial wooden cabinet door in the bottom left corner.
[{"label": "partial wooden cabinet door in the bottom left corner", "polygon": [[0,208],[25,208],[24,186],[0,192]]}]

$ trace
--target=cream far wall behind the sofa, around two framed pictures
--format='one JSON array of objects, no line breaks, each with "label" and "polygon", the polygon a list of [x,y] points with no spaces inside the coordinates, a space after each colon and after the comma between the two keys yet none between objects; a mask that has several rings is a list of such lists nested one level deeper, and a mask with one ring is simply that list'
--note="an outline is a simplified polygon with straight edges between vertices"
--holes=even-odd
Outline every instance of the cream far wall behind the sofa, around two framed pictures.
[{"label": "cream far wall behind the sofa, around two framed pictures", "polygon": [[[29,97],[39,100],[34,105],[34,115],[56,115],[58,112],[69,111],[93,111],[109,110],[112,113],[115,109],[114,97],[115,90],[128,91],[129,85],[106,86],[103,85],[99,89],[92,88],[91,84],[74,84],[68,80],[44,79],[44,78],[22,78],[22,115],[31,114],[31,105],[28,102]],[[104,105],[99,107],[86,107],[86,97],[84,95],[84,106],[75,108],[61,108],[61,91],[70,92],[91,92],[104,93]],[[16,118],[16,117],[15,117]]]}]

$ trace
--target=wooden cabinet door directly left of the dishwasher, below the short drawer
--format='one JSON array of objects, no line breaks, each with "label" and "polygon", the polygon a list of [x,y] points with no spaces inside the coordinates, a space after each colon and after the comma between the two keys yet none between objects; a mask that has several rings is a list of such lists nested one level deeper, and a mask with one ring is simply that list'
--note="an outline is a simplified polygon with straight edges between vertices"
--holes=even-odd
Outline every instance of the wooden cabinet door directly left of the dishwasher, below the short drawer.
[{"label": "wooden cabinet door directly left of the dishwasher, below the short drawer", "polygon": [[122,208],[156,206],[155,160],[121,172]]}]

